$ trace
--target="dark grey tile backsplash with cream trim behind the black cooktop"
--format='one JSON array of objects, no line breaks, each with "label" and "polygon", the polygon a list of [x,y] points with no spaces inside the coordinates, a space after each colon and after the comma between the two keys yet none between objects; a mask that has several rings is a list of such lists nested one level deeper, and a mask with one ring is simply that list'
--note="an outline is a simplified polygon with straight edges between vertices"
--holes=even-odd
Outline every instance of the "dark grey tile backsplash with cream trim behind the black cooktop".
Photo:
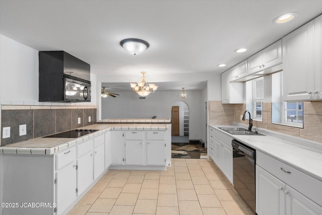
[{"label": "dark grey tile backsplash with cream trim behind the black cooktop", "polygon": [[[0,146],[96,124],[97,117],[95,106],[55,109],[51,106],[33,108],[2,105],[1,108],[1,130],[10,127],[10,137],[2,138]],[[80,124],[78,118],[81,118]],[[27,135],[20,136],[19,125],[23,124],[26,124]]]}]

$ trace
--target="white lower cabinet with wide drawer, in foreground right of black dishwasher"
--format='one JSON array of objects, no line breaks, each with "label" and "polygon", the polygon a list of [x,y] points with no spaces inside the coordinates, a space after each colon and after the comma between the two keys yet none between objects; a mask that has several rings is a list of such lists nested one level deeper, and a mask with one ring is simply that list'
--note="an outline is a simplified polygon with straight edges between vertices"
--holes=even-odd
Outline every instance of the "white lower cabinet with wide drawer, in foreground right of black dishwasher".
[{"label": "white lower cabinet with wide drawer, in foreground right of black dishwasher", "polygon": [[261,152],[257,152],[257,161],[256,212],[258,215],[322,214],[322,207],[316,203],[321,202],[320,181],[304,173],[298,173],[295,169]]}]

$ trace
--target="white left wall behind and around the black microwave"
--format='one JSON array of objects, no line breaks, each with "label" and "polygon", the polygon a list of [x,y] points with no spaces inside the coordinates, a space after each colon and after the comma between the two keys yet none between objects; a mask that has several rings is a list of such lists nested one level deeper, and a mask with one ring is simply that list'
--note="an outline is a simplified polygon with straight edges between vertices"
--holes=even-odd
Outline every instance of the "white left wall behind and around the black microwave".
[{"label": "white left wall behind and around the black microwave", "polygon": [[[38,50],[0,34],[0,102],[1,104],[36,104],[39,96]],[[96,105],[96,75],[91,74],[91,103]],[[33,103],[36,102],[36,103]],[[57,104],[57,103],[55,103]]]}]

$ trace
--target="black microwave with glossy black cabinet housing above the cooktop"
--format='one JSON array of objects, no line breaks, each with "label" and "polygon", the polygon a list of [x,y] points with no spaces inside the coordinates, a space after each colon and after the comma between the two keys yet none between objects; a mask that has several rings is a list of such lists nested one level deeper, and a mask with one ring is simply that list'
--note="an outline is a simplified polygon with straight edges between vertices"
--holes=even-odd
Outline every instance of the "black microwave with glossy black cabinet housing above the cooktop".
[{"label": "black microwave with glossy black cabinet housing above the cooktop", "polygon": [[91,102],[90,71],[65,51],[39,51],[39,101]]}]

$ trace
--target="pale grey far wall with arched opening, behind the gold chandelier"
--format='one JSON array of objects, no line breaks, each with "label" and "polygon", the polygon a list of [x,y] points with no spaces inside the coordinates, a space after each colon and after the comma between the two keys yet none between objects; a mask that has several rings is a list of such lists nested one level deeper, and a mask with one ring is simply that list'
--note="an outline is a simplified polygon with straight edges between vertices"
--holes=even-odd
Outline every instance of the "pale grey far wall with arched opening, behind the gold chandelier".
[{"label": "pale grey far wall with arched opening, behind the gold chandelier", "polygon": [[203,139],[204,91],[186,91],[187,98],[181,99],[181,91],[156,91],[139,99],[134,92],[113,92],[120,96],[102,99],[102,119],[111,118],[157,118],[171,119],[171,108],[177,101],[189,106],[189,138]]}]

